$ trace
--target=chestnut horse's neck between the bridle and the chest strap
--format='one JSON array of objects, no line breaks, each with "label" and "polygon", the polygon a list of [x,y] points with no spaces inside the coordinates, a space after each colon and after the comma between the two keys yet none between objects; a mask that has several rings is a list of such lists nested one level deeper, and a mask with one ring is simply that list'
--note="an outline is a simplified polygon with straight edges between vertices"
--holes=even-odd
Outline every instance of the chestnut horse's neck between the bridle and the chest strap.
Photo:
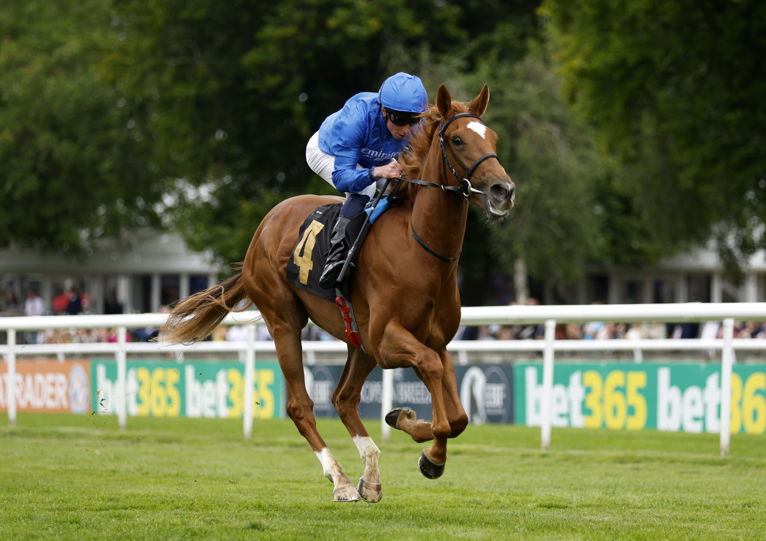
[{"label": "chestnut horse's neck between the bridle and the chest strap", "polygon": [[[434,138],[421,179],[444,184],[439,139]],[[454,175],[452,184],[457,184]],[[450,177],[448,177],[449,179]],[[448,194],[435,187],[421,186],[412,205],[412,229],[434,252],[446,257],[457,257],[463,247],[466,233],[468,205],[458,194]]]}]

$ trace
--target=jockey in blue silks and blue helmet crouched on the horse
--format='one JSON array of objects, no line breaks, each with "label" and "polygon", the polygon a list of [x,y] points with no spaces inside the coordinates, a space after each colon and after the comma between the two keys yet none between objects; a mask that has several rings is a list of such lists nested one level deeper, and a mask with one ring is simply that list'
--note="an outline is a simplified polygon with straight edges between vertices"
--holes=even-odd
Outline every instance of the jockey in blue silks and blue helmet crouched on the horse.
[{"label": "jockey in blue silks and blue helmet crouched on the horse", "polygon": [[384,81],[377,94],[352,96],[309,139],[309,167],[346,196],[325,254],[325,269],[319,278],[323,288],[335,285],[345,262],[350,248],[345,227],[375,195],[378,179],[401,174],[396,158],[407,145],[412,126],[420,121],[418,116],[427,109],[428,95],[421,80],[397,73]]}]

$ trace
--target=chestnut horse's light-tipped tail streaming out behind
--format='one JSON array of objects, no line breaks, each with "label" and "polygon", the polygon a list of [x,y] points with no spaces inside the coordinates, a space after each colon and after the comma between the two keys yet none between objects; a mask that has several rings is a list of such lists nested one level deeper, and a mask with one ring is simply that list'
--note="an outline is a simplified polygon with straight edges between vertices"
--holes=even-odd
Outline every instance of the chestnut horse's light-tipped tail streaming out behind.
[{"label": "chestnut horse's light-tipped tail streaming out behind", "polygon": [[[175,305],[162,327],[162,336],[172,342],[201,341],[244,298],[247,298],[244,279],[242,273],[237,272],[230,279],[195,293]],[[246,310],[250,305],[237,311]]]}]

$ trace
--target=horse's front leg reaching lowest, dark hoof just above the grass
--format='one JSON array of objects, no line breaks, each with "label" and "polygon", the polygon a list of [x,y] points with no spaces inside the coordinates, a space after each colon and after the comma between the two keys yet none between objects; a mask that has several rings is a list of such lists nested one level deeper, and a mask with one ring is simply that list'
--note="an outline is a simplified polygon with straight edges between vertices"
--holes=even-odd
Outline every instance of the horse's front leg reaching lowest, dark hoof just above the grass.
[{"label": "horse's front leg reaching lowest, dark hoof just above the grass", "polygon": [[[447,419],[447,409],[444,406],[444,393],[442,392],[444,365],[439,354],[430,347],[421,344],[401,324],[391,322],[385,327],[378,347],[378,359],[379,364],[384,369],[413,367],[423,383],[426,384],[431,394],[430,437],[434,439],[434,445],[423,450],[420,464],[421,471],[426,477],[439,477],[441,471],[444,471],[444,464],[447,461],[447,438],[451,432],[450,422]],[[414,426],[417,426],[417,422]],[[430,439],[426,438],[425,423],[417,430],[424,432],[418,434],[422,441]],[[424,461],[423,458],[426,460]],[[430,474],[427,471],[430,471]]]}]

